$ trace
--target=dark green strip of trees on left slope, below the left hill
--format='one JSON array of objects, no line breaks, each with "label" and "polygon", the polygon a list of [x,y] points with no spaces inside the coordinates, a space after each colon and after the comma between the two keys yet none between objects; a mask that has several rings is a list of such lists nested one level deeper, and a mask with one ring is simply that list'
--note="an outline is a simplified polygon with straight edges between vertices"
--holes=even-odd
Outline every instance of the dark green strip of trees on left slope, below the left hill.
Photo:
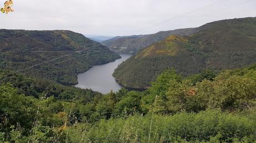
[{"label": "dark green strip of trees on left slope, below the left hill", "polygon": [[55,96],[62,100],[79,100],[86,104],[94,96],[101,95],[89,89],[78,89],[72,86],[63,86],[54,81],[41,78],[27,78],[27,76],[15,74],[10,71],[0,70],[0,85],[11,83],[18,94],[34,96],[35,98],[48,98]]}]

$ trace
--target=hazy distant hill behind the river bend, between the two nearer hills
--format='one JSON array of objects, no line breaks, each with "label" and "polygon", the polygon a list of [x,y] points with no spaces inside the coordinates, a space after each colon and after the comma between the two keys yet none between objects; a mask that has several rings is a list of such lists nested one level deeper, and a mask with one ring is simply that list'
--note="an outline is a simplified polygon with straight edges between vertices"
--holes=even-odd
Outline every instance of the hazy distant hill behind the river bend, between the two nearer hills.
[{"label": "hazy distant hill behind the river bend, between the two nearer hills", "polygon": [[169,31],[161,31],[155,34],[148,35],[131,35],[124,37],[114,37],[112,39],[102,42],[102,44],[107,45],[111,50],[117,53],[137,53],[141,49],[147,46],[159,42],[165,39],[169,35],[189,35],[198,32],[196,28],[186,28],[186,29],[176,29]]}]

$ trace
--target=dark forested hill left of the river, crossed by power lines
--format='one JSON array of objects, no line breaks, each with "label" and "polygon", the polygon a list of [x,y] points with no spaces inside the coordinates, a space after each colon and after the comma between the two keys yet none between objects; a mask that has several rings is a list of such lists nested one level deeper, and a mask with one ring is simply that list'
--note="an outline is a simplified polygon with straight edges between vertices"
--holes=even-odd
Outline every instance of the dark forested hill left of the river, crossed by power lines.
[{"label": "dark forested hill left of the river, crossed by power lines", "polygon": [[[120,56],[69,30],[0,29],[0,68],[76,84],[76,74]],[[49,66],[51,65],[51,66]]]}]

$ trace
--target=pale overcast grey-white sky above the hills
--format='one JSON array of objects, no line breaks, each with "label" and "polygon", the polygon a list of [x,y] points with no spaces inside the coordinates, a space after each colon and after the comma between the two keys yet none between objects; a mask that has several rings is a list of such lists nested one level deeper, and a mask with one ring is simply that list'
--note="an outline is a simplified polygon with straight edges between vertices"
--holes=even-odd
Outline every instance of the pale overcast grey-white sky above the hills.
[{"label": "pale overcast grey-white sky above the hills", "polygon": [[[0,0],[0,6],[6,0]],[[256,0],[13,0],[0,29],[66,29],[86,35],[132,35],[256,17]],[[205,7],[206,6],[206,7]]]}]

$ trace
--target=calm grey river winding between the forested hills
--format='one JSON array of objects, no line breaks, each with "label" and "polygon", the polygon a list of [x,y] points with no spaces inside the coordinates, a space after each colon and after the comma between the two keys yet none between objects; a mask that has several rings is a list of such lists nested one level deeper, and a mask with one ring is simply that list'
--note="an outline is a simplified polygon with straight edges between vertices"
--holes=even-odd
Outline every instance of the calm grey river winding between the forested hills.
[{"label": "calm grey river winding between the forested hills", "polygon": [[116,82],[112,73],[119,64],[130,58],[131,55],[120,54],[120,56],[122,58],[115,60],[115,62],[95,65],[85,73],[78,74],[78,84],[75,86],[82,89],[92,89],[103,94],[109,93],[111,90],[118,91],[122,86]]}]

